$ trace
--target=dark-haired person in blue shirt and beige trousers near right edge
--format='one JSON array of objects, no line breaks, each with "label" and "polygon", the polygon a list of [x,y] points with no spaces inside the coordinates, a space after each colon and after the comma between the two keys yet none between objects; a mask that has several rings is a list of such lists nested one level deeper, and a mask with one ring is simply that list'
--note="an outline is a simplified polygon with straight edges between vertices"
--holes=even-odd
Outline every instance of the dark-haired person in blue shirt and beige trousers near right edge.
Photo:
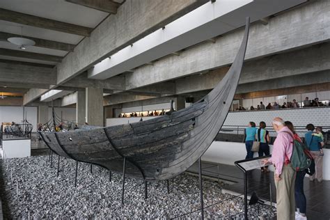
[{"label": "dark-haired person in blue shirt and beige trousers near right edge", "polygon": [[315,173],[309,176],[309,180],[313,181],[315,178],[318,182],[322,182],[322,164],[323,164],[323,156],[320,155],[320,148],[324,146],[323,140],[320,136],[314,136],[313,131],[315,129],[313,124],[306,125],[306,129],[308,132],[305,134],[305,144],[308,146],[308,149],[311,150],[311,154],[315,160]]}]

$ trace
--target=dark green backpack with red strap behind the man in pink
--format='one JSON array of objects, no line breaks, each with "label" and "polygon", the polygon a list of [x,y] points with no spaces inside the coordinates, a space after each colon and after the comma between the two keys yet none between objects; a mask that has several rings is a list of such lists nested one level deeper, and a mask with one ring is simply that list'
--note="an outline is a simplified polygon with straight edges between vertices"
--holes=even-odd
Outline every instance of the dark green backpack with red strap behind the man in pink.
[{"label": "dark green backpack with red strap behind the man in pink", "polygon": [[[290,134],[290,132],[285,132],[285,133]],[[290,135],[292,136],[292,134]],[[306,173],[308,172],[309,175],[313,175],[310,173],[313,172],[313,164],[314,164],[314,173],[315,173],[315,162],[314,163],[312,162],[314,159],[313,156],[311,155],[311,152],[304,145],[304,143],[294,139],[294,136],[292,136],[292,139],[293,139],[293,149],[290,158],[292,168],[294,169],[294,171],[306,171]],[[288,158],[287,155],[285,155],[285,157]]]}]

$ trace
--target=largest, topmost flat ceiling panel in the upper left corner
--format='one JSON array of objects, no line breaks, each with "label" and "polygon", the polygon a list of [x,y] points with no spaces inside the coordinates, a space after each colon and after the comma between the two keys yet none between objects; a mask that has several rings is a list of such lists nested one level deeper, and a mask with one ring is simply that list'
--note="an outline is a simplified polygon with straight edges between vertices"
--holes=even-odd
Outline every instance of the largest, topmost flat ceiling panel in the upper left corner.
[{"label": "largest, topmost flat ceiling panel in the upper left corner", "polygon": [[64,0],[1,0],[0,8],[95,28],[108,13]]}]

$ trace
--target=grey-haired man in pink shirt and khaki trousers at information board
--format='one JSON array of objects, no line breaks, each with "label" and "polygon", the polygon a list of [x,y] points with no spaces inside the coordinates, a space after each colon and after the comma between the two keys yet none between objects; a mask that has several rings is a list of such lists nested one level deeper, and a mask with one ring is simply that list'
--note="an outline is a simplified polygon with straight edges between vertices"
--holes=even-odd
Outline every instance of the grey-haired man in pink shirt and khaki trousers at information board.
[{"label": "grey-haired man in pink shirt and khaki trousers at information board", "polygon": [[[274,118],[273,127],[278,133],[274,141],[272,157],[264,159],[264,164],[274,164],[274,181],[276,186],[277,219],[294,220],[294,180],[296,171],[290,164],[293,149],[292,132],[285,127],[282,118]],[[288,134],[288,133],[289,134]]]}]

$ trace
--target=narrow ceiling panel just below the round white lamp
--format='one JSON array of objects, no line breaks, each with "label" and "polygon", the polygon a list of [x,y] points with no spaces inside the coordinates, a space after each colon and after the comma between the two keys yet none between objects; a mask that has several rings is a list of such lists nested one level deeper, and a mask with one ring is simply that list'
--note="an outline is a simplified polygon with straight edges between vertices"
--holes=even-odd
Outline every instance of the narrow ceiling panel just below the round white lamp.
[{"label": "narrow ceiling panel just below the round white lamp", "polygon": [[19,49],[19,46],[13,45],[10,42],[0,41],[0,48],[4,49],[15,49],[22,52],[31,52],[31,53],[38,53],[38,54],[48,54],[54,56],[65,56],[68,52],[64,52],[62,50],[57,49],[47,49],[43,47],[26,47],[26,49]]}]

